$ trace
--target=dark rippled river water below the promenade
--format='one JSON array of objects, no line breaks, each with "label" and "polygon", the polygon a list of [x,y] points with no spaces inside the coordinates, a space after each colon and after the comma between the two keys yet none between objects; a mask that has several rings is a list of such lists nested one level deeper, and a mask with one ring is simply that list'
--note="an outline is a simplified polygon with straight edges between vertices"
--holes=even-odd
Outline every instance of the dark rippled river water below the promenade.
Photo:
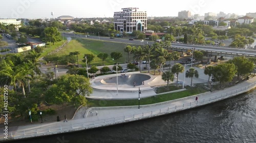
[{"label": "dark rippled river water below the promenade", "polygon": [[161,117],[74,133],[13,141],[256,142],[256,90]]}]

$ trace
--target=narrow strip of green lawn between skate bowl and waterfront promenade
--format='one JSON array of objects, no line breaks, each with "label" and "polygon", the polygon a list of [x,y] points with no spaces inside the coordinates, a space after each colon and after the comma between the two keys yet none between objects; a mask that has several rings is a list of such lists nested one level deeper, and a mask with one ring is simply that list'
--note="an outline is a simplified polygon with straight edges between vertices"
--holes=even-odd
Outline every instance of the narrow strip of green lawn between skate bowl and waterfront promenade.
[{"label": "narrow strip of green lawn between skate bowl and waterfront promenade", "polygon": [[[153,97],[141,98],[140,105],[154,104],[179,98],[184,98],[188,96],[193,96],[201,93],[207,92],[202,88],[187,88],[186,91],[169,93],[163,95],[157,95]],[[143,93],[142,93],[143,94]],[[108,106],[132,106],[138,105],[138,99],[132,100],[90,100],[88,99],[88,104],[93,107],[108,107]]]}]

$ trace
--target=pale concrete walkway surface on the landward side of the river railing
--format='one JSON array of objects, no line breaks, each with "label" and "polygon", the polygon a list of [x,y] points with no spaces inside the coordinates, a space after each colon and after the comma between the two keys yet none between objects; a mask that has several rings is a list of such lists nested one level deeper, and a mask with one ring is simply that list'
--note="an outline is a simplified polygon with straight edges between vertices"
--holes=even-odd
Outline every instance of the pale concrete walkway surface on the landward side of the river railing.
[{"label": "pale concrete walkway surface on the landward side of the river railing", "polygon": [[[238,90],[241,88],[246,87],[247,85],[253,83],[256,81],[256,77],[250,78],[249,80],[246,80],[242,83],[239,83],[237,85],[234,85],[233,87],[224,89],[222,91],[217,91],[217,92],[212,92],[212,93],[207,93],[207,94],[202,94],[200,96],[198,96],[198,100],[202,101],[204,99],[208,99],[209,97],[216,97],[218,95],[224,94],[224,93],[228,93],[234,90]],[[106,102],[108,102],[106,100]],[[142,112],[151,112],[154,110],[159,110],[161,108],[165,108],[165,107],[170,107],[170,106],[181,106],[184,103],[189,103],[191,102],[192,104],[196,103],[197,101],[195,101],[195,96],[189,97],[189,98],[185,98],[185,99],[179,99],[178,101],[172,102],[172,103],[168,103],[168,104],[161,104],[161,105],[155,105],[155,106],[140,106],[140,109],[138,109],[138,106],[133,106],[133,107],[129,107],[129,108],[112,108],[112,109],[97,109],[97,110],[91,110],[91,112],[94,112],[94,114],[88,114],[88,116],[86,118],[82,118],[82,119],[74,119],[74,120],[70,120],[68,122],[53,122],[53,123],[42,123],[42,124],[33,124],[33,125],[27,125],[27,126],[19,126],[17,128],[14,128],[13,130],[9,130],[9,136],[11,135],[10,132],[12,132],[12,135],[14,138],[19,138],[21,136],[25,135],[30,135],[30,136],[35,136],[38,133],[40,133],[40,130],[46,130],[47,128],[51,128],[51,131],[49,129],[49,131],[47,130],[47,132],[52,132],[54,130],[58,131],[60,130],[59,127],[67,127],[70,128],[72,127],[70,130],[73,130],[73,126],[75,124],[82,124],[84,127],[84,122],[92,122],[92,124],[95,125],[95,122],[102,122],[102,120],[104,120],[104,122],[106,122],[106,119],[113,119],[113,118],[118,118],[121,117],[123,118],[123,116],[130,116],[133,115],[135,116],[136,114],[140,114]],[[190,103],[190,104],[191,104]],[[97,111],[97,116],[96,116],[96,111]],[[81,118],[81,116],[76,116],[78,118]],[[58,129],[56,129],[58,127]],[[62,128],[62,130],[63,130]],[[38,131],[37,131],[38,130]],[[1,129],[1,131],[3,131],[3,129]],[[25,132],[25,133],[24,133]],[[15,135],[16,133],[16,135]],[[3,136],[3,133],[1,133],[1,138]]]}]

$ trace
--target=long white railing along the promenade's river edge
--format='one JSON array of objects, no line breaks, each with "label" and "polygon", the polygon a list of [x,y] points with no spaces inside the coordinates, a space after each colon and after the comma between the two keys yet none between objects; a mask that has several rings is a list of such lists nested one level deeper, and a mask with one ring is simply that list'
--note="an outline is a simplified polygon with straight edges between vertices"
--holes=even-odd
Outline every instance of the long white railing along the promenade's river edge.
[{"label": "long white railing along the promenade's river edge", "polygon": [[227,97],[229,95],[232,95],[234,93],[239,93],[242,92],[244,90],[248,90],[249,88],[251,88],[252,86],[255,86],[256,82],[251,83],[250,85],[247,85],[244,88],[240,88],[237,90],[233,90],[227,93],[223,93],[221,95],[217,95],[217,96],[212,96],[209,98],[205,98],[205,99],[201,99],[198,101],[193,101],[193,102],[187,102],[184,104],[180,104],[180,105],[175,105],[175,106],[169,106],[169,107],[165,107],[165,108],[160,108],[160,109],[156,109],[156,110],[152,110],[152,111],[145,111],[145,112],[140,112],[140,113],[136,113],[134,115],[125,115],[125,116],[121,116],[121,117],[115,117],[115,118],[110,118],[110,119],[104,119],[104,120],[97,120],[97,121],[90,121],[90,122],[83,122],[83,123],[76,123],[76,124],[71,124],[71,125],[64,125],[64,126],[54,126],[54,127],[38,127],[38,129],[32,129],[32,130],[23,130],[23,131],[16,131],[15,133],[11,133],[11,137],[20,137],[20,138],[25,138],[26,135],[34,135],[34,134],[39,134],[39,133],[49,133],[49,132],[60,132],[60,131],[68,131],[68,130],[72,130],[72,129],[78,129],[81,128],[95,128],[95,127],[99,127],[99,126],[104,126],[104,125],[111,125],[111,124],[118,124],[118,123],[122,123],[122,122],[129,122],[129,121],[133,121],[136,119],[141,119],[141,118],[148,118],[148,117],[152,117],[152,116],[156,116],[156,115],[162,115],[164,113],[171,113],[171,112],[175,112],[177,110],[182,110],[182,109],[187,109],[187,108],[191,108],[191,107],[196,107],[199,105],[204,105],[207,104],[209,102],[215,102],[218,100],[222,100],[224,99],[224,97]]}]

